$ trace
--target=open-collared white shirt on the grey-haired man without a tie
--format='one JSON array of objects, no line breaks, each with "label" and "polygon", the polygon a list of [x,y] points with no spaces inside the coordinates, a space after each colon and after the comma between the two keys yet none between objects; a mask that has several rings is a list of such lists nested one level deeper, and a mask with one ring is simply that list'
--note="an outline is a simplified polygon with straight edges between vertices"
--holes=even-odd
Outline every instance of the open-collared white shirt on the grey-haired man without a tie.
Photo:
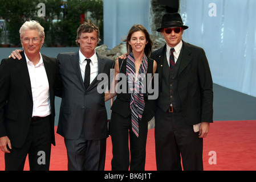
[{"label": "open-collared white shirt on the grey-haired man without a tie", "polygon": [[46,70],[43,64],[43,58],[40,54],[39,63],[34,65],[25,53],[27,68],[31,83],[33,111],[32,117],[46,117],[51,114],[49,83]]}]

